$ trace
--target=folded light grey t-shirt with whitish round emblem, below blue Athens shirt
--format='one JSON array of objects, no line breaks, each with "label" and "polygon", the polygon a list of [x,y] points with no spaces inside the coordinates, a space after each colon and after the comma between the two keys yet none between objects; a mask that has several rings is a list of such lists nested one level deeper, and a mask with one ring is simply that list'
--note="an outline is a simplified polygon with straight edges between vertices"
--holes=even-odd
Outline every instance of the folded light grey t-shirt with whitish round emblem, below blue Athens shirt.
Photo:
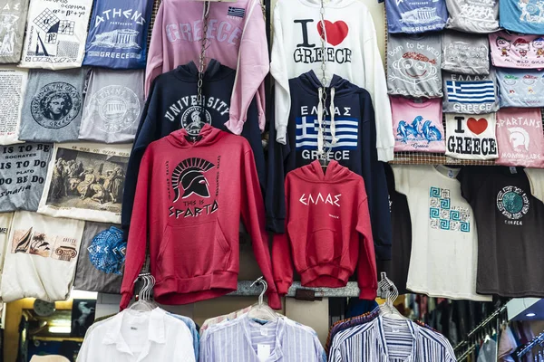
[{"label": "folded light grey t-shirt with whitish round emblem, below blue Athens shirt", "polygon": [[95,68],[89,75],[79,138],[105,143],[134,140],[144,105],[144,71]]}]

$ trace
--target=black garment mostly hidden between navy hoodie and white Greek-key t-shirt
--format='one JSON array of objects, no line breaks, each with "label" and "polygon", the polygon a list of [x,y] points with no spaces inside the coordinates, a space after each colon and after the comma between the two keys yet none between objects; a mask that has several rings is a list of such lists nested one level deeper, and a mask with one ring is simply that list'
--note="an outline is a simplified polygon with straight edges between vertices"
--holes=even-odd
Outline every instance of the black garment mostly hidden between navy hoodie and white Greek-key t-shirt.
[{"label": "black garment mostly hidden between navy hoodie and white Greek-key t-shirt", "polygon": [[[391,245],[391,260],[377,260],[378,271],[385,271],[387,278],[393,281],[399,294],[410,293],[406,290],[408,280],[408,268],[410,267],[410,255],[412,253],[412,221],[406,195],[397,192],[394,188],[393,169],[389,164],[384,164],[387,190],[389,192],[389,209],[391,211],[391,224],[393,238]],[[378,274],[378,280],[380,275]]]}]

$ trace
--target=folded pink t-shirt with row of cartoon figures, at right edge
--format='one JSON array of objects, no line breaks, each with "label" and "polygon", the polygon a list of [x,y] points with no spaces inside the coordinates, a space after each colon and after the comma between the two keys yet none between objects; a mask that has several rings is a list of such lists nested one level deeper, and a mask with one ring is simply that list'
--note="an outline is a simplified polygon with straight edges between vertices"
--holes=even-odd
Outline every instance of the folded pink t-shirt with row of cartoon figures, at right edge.
[{"label": "folded pink t-shirt with row of cartoon figures, at right edge", "polygon": [[544,68],[544,36],[491,33],[491,61],[496,67]]}]

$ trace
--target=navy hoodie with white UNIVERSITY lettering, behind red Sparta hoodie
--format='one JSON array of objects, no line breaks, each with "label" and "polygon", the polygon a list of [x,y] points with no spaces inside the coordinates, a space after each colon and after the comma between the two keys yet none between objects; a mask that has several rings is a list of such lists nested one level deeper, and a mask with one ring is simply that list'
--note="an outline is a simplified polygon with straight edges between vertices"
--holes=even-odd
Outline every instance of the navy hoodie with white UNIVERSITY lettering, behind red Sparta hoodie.
[{"label": "navy hoodie with white UNIVERSITY lettering, behind red Sparta hoodie", "polygon": [[[151,142],[166,137],[181,128],[186,129],[189,135],[197,136],[199,121],[204,120],[203,118],[206,118],[204,121],[213,127],[227,130],[224,123],[228,121],[230,95],[234,87],[236,71],[215,60],[209,62],[202,86],[206,106],[206,111],[203,114],[197,103],[198,74],[199,71],[195,63],[189,62],[189,64],[180,65],[173,71],[161,74],[151,84],[150,95],[142,112],[136,138],[134,138],[122,197],[121,226],[125,232],[125,239],[131,222],[138,171],[145,148]],[[242,136],[248,139],[253,150],[259,183],[264,189],[266,183],[265,154],[258,128],[255,100],[249,106],[248,119]]]}]

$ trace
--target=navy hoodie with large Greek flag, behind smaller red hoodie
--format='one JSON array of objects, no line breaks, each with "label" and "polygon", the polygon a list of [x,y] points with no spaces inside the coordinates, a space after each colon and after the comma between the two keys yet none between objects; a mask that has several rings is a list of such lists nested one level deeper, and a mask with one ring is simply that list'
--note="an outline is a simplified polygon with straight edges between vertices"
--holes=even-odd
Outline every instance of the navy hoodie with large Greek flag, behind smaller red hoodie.
[{"label": "navy hoodie with large Greek flag, behind smaller red hoodie", "polygon": [[[284,179],[287,172],[311,163],[317,156],[317,105],[321,82],[314,71],[289,81],[291,113],[287,124],[287,145],[268,146],[267,227],[275,233],[285,230]],[[335,135],[338,142],[329,153],[342,166],[363,176],[372,222],[375,252],[380,260],[391,259],[391,215],[384,165],[378,161],[374,109],[368,91],[333,76],[335,89]],[[331,90],[325,108],[325,145],[330,144]],[[276,139],[274,127],[270,139]],[[328,147],[325,146],[325,151]]]}]

